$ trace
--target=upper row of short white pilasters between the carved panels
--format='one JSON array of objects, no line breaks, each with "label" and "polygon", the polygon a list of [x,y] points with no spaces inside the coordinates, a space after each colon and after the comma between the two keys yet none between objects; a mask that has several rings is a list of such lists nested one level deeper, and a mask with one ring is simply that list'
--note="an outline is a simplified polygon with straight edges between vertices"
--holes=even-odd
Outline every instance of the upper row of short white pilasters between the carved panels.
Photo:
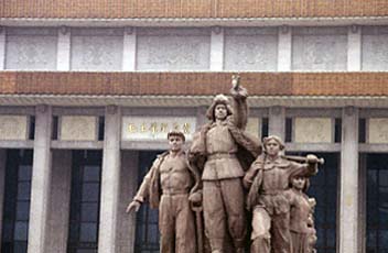
[{"label": "upper row of short white pilasters between the carved panels", "polygon": [[[362,70],[362,30],[351,26],[347,42],[347,70]],[[4,69],[6,62],[6,31],[0,28],[0,69]],[[213,28],[211,37],[212,72],[224,69],[224,29]],[[136,70],[137,32],[134,28],[127,28],[123,33],[122,70]],[[278,72],[290,72],[292,61],[292,29],[283,26],[278,34]],[[57,41],[57,70],[71,70],[71,30],[62,28]]]}]

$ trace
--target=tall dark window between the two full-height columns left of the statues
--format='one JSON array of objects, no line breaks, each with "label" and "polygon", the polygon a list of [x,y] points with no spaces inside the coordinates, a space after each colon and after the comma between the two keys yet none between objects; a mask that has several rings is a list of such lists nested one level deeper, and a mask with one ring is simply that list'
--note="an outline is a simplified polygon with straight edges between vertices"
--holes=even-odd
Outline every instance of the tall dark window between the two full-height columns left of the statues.
[{"label": "tall dark window between the two full-height columns left of the statues", "polygon": [[68,253],[97,253],[101,157],[101,151],[73,151]]}]

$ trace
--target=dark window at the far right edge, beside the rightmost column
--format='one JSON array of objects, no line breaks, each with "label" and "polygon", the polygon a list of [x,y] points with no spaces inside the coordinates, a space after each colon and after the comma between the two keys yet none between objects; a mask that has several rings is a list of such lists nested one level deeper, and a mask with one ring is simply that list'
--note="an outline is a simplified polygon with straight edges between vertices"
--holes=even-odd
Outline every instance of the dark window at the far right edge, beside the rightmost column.
[{"label": "dark window at the far right edge, beside the rightmost column", "polygon": [[388,156],[367,155],[366,252],[388,252]]}]

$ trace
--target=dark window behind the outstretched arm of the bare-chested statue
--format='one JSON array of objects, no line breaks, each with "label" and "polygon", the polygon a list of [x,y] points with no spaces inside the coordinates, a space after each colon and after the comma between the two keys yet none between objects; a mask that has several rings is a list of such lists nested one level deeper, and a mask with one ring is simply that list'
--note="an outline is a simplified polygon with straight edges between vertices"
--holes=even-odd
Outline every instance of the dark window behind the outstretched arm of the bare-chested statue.
[{"label": "dark window behind the outstretched arm of the bare-chested statue", "polygon": [[[140,152],[139,186],[160,152]],[[137,213],[136,249],[137,253],[159,253],[159,212],[149,205],[142,205]]]}]

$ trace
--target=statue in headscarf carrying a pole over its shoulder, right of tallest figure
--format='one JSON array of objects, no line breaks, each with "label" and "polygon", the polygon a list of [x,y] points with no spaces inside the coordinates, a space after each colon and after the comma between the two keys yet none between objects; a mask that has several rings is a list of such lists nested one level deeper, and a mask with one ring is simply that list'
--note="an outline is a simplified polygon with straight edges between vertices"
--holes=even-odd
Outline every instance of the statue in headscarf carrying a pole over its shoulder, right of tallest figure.
[{"label": "statue in headscarf carrying a pole over its shoulder, right of tallest figure", "polygon": [[[308,155],[295,163],[280,155],[280,138],[263,139],[265,153],[257,157],[244,178],[249,188],[247,206],[252,210],[251,253],[290,253],[290,202],[285,196],[292,175],[310,177],[317,172],[319,160]],[[301,157],[299,157],[301,158]]]}]

